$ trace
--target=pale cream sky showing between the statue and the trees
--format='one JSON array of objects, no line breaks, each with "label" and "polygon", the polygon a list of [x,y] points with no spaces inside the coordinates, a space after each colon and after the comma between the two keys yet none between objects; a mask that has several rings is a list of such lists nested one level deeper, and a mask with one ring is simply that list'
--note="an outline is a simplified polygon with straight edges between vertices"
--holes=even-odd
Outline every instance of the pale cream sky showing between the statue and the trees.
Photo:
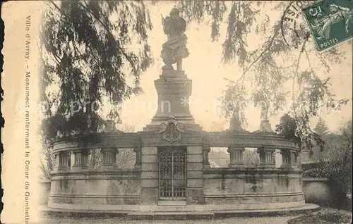
[{"label": "pale cream sky showing between the statue and the trees", "polygon": [[[144,94],[132,97],[129,101],[126,101],[125,110],[122,113],[123,123],[135,125],[135,130],[142,130],[155,115],[155,108],[143,109],[142,106],[136,107],[135,105],[157,101],[157,92],[153,81],[157,80],[162,73],[161,68],[164,64],[160,58],[160,51],[162,44],[167,38],[162,31],[160,14],[164,17],[167,16],[173,7],[173,1],[162,1],[157,6],[150,8],[153,29],[149,32],[148,42],[151,46],[155,63],[142,75],[140,86],[143,88]],[[273,15],[271,20],[275,21],[281,17],[282,12],[273,11],[270,12],[270,15]],[[225,18],[227,18],[227,15]],[[220,131],[229,127],[229,123],[226,122],[225,118],[220,116],[220,111],[217,109],[217,105],[220,102],[217,99],[222,96],[222,91],[225,90],[227,85],[224,78],[237,80],[241,75],[241,69],[237,63],[225,65],[221,61],[222,41],[225,38],[225,31],[226,24],[224,23],[220,27],[220,41],[212,42],[209,25],[205,23],[189,23],[186,28],[186,36],[189,38],[187,47],[191,54],[184,59],[183,70],[193,82],[190,98],[191,114],[195,118],[196,123],[203,127],[203,130]],[[252,35],[249,37],[247,44],[251,48],[259,42],[262,42],[261,37]],[[347,43],[341,44],[339,50],[347,51],[347,58],[341,64],[331,63],[331,71],[328,74],[331,77],[331,92],[338,98],[352,99],[352,46]],[[282,114],[278,113],[277,116],[270,117],[273,129]],[[343,120],[352,117],[352,101],[349,101],[347,106],[342,107],[341,111],[331,112],[330,114],[321,111],[319,115],[325,120],[330,130],[337,130]],[[247,108],[246,119],[248,123],[246,130],[258,130],[261,122],[258,108]],[[311,125],[316,125],[317,120],[318,118],[314,118]]]}]

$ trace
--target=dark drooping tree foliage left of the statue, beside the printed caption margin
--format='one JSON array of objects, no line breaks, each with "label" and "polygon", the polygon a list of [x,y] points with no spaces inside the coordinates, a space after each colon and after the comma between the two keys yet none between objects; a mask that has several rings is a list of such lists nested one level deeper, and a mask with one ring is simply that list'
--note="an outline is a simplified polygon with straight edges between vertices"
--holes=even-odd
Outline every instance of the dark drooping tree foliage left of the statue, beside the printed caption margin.
[{"label": "dark drooping tree foliage left of the statue, beside the printed caption margin", "polygon": [[[103,97],[113,105],[108,118],[119,120],[116,105],[141,92],[140,75],[152,63],[148,10],[144,1],[47,4],[41,27],[45,115],[66,135],[95,132],[103,125],[98,113]],[[129,50],[135,42],[139,48]],[[134,77],[133,87],[127,73]],[[59,91],[51,91],[53,85]]]}]

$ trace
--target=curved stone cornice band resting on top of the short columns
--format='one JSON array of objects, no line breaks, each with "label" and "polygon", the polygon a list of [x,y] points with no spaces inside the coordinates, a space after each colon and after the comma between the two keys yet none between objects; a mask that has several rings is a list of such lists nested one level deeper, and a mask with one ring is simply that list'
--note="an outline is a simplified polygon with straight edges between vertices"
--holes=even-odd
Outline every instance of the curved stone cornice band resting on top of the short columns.
[{"label": "curved stone cornice band resting on top of the short columns", "polygon": [[162,139],[162,134],[153,132],[97,133],[82,137],[65,137],[54,142],[54,152],[73,149],[100,149],[104,147],[136,148],[154,145],[199,145],[207,142],[209,147],[249,147],[291,149],[299,151],[294,142],[280,135],[265,132],[187,132],[177,144]]}]

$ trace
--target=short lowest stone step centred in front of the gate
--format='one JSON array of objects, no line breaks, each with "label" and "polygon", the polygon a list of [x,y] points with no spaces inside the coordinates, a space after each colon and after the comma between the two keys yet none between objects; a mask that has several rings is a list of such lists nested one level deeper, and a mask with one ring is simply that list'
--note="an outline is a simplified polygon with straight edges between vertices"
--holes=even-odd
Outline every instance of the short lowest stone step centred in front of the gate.
[{"label": "short lowest stone step centred in front of the gate", "polygon": [[197,219],[213,219],[215,213],[210,211],[192,211],[192,212],[152,212],[152,211],[136,211],[128,213],[128,218],[133,220],[197,220]]}]

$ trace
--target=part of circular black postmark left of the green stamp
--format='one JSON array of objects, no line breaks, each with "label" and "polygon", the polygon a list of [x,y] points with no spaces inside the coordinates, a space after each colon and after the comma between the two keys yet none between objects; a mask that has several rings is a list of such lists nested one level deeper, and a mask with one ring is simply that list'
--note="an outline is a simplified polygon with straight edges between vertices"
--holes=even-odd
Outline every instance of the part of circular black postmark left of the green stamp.
[{"label": "part of circular black postmark left of the green stamp", "polygon": [[308,4],[309,1],[292,1],[282,15],[282,37],[288,46],[295,49],[301,49],[310,36],[309,26],[302,13],[302,8]]}]

